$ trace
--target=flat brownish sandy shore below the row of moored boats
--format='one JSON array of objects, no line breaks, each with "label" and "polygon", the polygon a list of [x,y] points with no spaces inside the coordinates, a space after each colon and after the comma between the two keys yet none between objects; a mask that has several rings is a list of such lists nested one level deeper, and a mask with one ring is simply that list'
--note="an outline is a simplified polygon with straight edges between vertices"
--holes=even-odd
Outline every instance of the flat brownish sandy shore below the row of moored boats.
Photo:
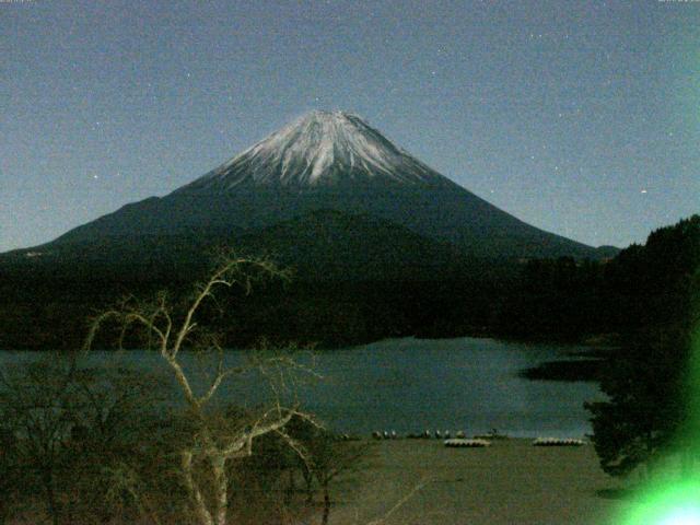
[{"label": "flat brownish sandy shore below the row of moored boats", "polygon": [[338,480],[330,525],[368,524],[411,493],[383,524],[616,523],[628,503],[599,495],[620,485],[600,470],[592,445],[530,443],[446,448],[436,440],[376,442],[368,466]]}]

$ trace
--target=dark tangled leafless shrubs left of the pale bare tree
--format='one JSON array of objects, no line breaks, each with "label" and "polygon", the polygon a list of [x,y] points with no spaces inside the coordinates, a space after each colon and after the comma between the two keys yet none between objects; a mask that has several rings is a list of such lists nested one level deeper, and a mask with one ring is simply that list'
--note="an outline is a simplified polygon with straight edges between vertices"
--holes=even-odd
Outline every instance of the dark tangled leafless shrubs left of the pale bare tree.
[{"label": "dark tangled leafless shrubs left of the pale bare tree", "polygon": [[[149,374],[90,369],[50,355],[0,377],[0,468],[7,514],[43,502],[54,524],[101,523],[116,510],[106,494],[108,471],[138,463]],[[150,399],[153,399],[151,397]],[[148,417],[147,417],[148,416]],[[8,448],[4,448],[7,443]]]}]

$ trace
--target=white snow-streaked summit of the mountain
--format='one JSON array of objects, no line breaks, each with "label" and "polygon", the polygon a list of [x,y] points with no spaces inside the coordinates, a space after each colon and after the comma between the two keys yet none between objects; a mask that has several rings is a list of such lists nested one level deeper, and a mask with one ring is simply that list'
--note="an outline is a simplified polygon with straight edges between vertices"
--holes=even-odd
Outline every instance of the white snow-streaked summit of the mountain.
[{"label": "white snow-streaked summit of the mountain", "polygon": [[177,192],[242,186],[445,186],[447,178],[394,145],[359,116],[311,112]]}]

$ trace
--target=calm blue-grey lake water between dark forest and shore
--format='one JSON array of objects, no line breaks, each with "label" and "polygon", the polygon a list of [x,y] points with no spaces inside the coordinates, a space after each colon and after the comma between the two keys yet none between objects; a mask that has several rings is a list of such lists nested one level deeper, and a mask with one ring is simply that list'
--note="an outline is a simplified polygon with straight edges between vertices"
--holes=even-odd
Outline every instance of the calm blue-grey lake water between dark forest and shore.
[{"label": "calm blue-grey lake water between dark forest and shore", "polygon": [[[525,345],[493,339],[387,339],[371,345],[319,353],[315,371],[322,381],[302,384],[295,392],[307,411],[340,432],[369,434],[464,430],[532,438],[591,433],[586,400],[604,399],[594,383],[530,381],[521,370],[545,361],[571,359],[582,347]],[[35,359],[28,352],[0,352],[0,365]],[[192,373],[206,370],[186,355]],[[93,352],[105,363],[130,362],[159,370],[152,352]],[[241,364],[244,353],[230,351],[226,364]],[[202,372],[203,373],[203,372]],[[229,383],[220,395],[232,401],[260,402],[261,376]]]}]

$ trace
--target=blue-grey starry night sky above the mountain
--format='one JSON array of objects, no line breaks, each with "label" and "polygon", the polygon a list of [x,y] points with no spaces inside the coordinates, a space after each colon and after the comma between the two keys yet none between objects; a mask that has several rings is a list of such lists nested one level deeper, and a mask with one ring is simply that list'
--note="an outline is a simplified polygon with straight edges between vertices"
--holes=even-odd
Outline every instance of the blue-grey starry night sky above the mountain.
[{"label": "blue-grey starry night sky above the mountain", "polygon": [[700,212],[700,1],[0,0],[0,252],[357,113],[592,245]]}]

